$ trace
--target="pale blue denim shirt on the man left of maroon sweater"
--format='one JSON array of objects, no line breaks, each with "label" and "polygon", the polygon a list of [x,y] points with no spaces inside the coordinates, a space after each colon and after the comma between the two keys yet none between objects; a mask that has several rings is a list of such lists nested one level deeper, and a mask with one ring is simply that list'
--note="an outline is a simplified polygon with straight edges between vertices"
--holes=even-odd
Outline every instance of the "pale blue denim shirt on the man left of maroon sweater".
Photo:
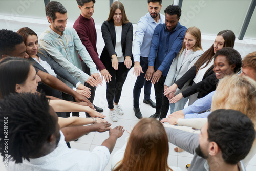
[{"label": "pale blue denim shirt on the man left of maroon sweater", "polygon": [[[98,73],[96,65],[93,63],[92,58],[83,46],[74,28],[66,28],[62,36],[60,36],[49,27],[40,35],[39,43],[72,76],[80,78],[85,82],[89,78],[89,75],[81,70],[79,55],[90,68],[91,74]],[[66,81],[63,82],[66,83]]]}]

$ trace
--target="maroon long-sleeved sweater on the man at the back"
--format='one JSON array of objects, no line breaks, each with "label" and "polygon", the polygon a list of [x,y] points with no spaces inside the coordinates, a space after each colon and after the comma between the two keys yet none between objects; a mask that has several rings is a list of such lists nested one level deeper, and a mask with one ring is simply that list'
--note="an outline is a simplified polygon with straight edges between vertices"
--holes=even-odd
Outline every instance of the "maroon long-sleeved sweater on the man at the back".
[{"label": "maroon long-sleeved sweater on the man at the back", "polygon": [[[76,30],[82,44],[86,47],[99,71],[105,69],[105,66],[99,59],[99,54],[97,53],[97,33],[93,18],[88,19],[80,15],[75,21],[73,28]],[[82,61],[81,57],[80,60]]]}]

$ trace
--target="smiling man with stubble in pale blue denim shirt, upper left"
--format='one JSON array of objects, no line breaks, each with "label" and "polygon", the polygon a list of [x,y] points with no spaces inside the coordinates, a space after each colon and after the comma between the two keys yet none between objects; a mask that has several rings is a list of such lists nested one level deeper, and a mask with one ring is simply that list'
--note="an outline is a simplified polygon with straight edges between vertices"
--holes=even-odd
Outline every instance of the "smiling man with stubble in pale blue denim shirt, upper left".
[{"label": "smiling man with stubble in pale blue denim shirt, upper left", "polygon": [[[87,82],[91,86],[102,84],[102,79],[96,69],[96,65],[82,44],[75,29],[66,28],[68,19],[66,8],[57,1],[51,1],[46,5],[46,16],[51,25],[40,35],[40,46],[82,84],[83,82]],[[79,55],[90,69],[91,75],[82,71]],[[61,78],[60,80],[72,86],[68,81]],[[62,94],[62,97],[65,100],[74,101],[72,96],[65,93]],[[72,114],[73,116],[79,116],[77,112]],[[66,115],[69,116],[70,113],[66,113]]]}]

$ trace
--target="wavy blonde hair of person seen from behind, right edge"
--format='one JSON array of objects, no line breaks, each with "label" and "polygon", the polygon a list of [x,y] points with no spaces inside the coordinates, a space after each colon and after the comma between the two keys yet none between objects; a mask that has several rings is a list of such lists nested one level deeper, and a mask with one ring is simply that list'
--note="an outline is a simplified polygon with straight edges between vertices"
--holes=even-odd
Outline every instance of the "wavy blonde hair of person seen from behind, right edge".
[{"label": "wavy blonde hair of person seen from behind, right edge", "polygon": [[233,109],[256,123],[256,81],[247,76],[225,76],[212,96],[211,111]]}]

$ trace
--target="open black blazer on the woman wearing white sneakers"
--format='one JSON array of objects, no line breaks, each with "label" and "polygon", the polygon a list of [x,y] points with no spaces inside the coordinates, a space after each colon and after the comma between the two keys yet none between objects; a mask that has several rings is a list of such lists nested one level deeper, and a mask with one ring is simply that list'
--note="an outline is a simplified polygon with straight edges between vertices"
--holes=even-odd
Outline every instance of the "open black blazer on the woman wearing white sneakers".
[{"label": "open black blazer on the woman wearing white sneakers", "polygon": [[[105,21],[101,26],[102,37],[105,42],[105,46],[100,55],[100,60],[106,68],[112,68],[111,56],[116,54],[116,31],[113,20],[110,22]],[[133,25],[131,22],[122,25],[122,52],[123,56],[130,56],[132,60],[133,67],[133,54],[132,54],[132,44],[133,44]]]}]

